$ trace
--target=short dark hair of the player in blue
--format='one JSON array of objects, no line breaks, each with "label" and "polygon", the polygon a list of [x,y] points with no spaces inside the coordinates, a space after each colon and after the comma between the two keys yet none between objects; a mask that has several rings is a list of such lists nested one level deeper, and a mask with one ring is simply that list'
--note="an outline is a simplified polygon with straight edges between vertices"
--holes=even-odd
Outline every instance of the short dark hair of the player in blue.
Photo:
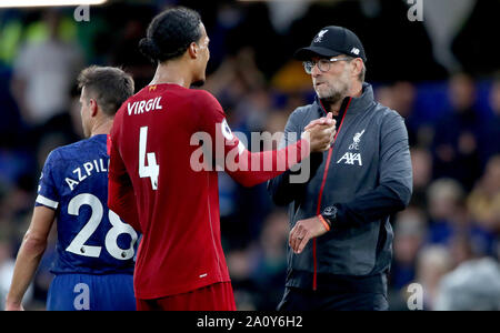
[{"label": "short dark hair of the player in blue", "polygon": [[133,94],[133,79],[116,67],[91,65],[78,75],[78,87],[86,88],[86,93],[93,98],[99,108],[113,117],[121,104]]}]

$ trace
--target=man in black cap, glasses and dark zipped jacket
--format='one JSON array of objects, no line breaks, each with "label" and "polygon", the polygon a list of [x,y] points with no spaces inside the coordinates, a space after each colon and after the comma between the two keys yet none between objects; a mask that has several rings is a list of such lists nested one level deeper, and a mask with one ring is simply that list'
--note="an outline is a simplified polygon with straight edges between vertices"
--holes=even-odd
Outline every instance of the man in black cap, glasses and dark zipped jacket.
[{"label": "man in black cap, glasses and dark zipped jacket", "polygon": [[293,181],[296,170],[268,184],[273,201],[289,205],[291,225],[278,309],[388,310],[389,219],[408,205],[412,191],[403,119],[373,100],[364,83],[364,50],[352,31],[326,27],[294,57],[303,60],[317,98],[293,111],[281,144],[328,112],[337,134],[327,152],[302,162],[311,168],[307,182]]}]

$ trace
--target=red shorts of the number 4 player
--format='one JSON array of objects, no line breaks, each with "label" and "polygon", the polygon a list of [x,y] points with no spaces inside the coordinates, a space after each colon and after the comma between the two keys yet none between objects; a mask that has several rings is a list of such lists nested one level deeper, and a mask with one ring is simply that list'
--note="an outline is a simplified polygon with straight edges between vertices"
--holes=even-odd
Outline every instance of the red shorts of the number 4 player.
[{"label": "red shorts of the number 4 player", "polygon": [[137,299],[138,311],[236,311],[231,282],[210,284],[183,294]]}]

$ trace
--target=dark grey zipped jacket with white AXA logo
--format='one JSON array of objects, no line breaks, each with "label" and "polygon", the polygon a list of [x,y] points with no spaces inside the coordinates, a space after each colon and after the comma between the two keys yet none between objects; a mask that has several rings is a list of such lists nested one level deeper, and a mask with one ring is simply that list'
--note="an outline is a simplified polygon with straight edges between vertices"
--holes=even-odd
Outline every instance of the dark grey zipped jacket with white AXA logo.
[{"label": "dark grey zipped jacket with white AXA logo", "polygon": [[[318,98],[298,108],[280,144],[292,143],[288,133],[300,138],[311,120],[323,115]],[[389,219],[408,205],[412,191],[407,129],[364,83],[361,97],[344,99],[337,132],[329,151],[309,158],[307,182],[291,182],[300,172],[287,171],[268,183],[273,201],[289,204],[290,228],[328,206],[338,209],[331,231],[310,241],[301,254],[289,249],[287,286],[384,292],[392,259]]]}]

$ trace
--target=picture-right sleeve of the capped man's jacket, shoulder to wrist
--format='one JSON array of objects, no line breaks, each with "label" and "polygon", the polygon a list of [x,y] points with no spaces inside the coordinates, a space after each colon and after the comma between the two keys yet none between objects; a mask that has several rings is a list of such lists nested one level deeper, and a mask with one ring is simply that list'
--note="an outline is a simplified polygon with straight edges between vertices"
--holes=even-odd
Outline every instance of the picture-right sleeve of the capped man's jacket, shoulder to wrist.
[{"label": "picture-right sleeve of the capped man's jacket, shoulder to wrist", "polygon": [[352,201],[336,203],[334,225],[360,225],[408,206],[413,181],[408,132],[402,118],[392,114],[386,117],[380,129],[379,185]]}]

